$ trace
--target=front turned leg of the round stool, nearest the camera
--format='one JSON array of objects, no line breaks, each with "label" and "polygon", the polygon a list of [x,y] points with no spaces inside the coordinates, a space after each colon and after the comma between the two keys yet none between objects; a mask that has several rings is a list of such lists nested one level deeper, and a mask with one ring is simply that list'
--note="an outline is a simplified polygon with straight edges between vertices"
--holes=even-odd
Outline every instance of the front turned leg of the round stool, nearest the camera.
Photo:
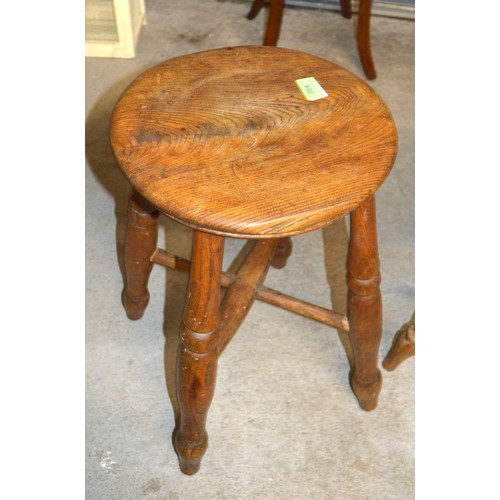
[{"label": "front turned leg of the round stool, nearest the camera", "polygon": [[174,437],[180,468],[188,475],[198,471],[208,445],[205,422],[215,390],[223,253],[223,237],[195,231],[177,357],[181,418]]}]

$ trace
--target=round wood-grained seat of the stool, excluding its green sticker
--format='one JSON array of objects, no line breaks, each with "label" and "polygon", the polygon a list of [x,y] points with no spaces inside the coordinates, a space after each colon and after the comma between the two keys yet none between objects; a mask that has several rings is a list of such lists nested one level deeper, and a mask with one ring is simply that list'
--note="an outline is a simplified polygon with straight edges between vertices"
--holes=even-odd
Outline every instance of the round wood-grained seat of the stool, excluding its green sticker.
[{"label": "round wood-grained seat of the stool, excluding its green sticker", "polygon": [[[328,97],[308,101],[313,76]],[[224,236],[282,237],[350,213],[382,184],[390,111],[360,78],[295,50],[244,46],[161,63],[123,93],[116,158],[164,214]]]}]

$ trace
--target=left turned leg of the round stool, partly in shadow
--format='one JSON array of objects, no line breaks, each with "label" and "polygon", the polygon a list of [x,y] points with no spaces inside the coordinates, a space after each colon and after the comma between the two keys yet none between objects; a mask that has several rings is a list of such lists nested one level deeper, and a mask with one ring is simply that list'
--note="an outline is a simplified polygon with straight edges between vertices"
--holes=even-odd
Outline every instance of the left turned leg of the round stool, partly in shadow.
[{"label": "left turned leg of the round stool, partly in shadow", "polygon": [[149,302],[148,279],[153,268],[151,256],[156,249],[159,212],[136,191],[128,205],[125,230],[126,284],[122,300],[130,319],[139,319]]}]

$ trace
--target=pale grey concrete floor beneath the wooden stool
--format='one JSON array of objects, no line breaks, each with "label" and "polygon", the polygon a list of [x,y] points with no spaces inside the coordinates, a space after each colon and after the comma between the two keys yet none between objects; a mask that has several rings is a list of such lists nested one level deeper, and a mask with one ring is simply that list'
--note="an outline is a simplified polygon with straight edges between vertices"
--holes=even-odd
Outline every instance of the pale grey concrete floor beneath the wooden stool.
[{"label": "pale grey concrete floor beneath the wooden stool", "polygon": [[[171,441],[175,353],[187,276],[155,267],[144,317],[120,301],[128,185],[112,157],[114,103],[141,71],[173,56],[259,44],[244,1],[150,0],[134,59],[86,61],[86,498],[414,498],[415,359],[383,371],[378,408],[349,389],[345,332],[256,303],[219,363],[200,472],[184,476]],[[362,76],[355,18],[288,8],[280,45]],[[414,23],[372,19],[378,71],[370,83],[399,131],[394,169],[377,194],[384,328],[381,358],[414,311]],[[189,257],[191,231],[162,219],[159,244]],[[345,307],[343,222],[294,238],[288,266],[266,284]],[[228,240],[226,265],[244,242]]]}]

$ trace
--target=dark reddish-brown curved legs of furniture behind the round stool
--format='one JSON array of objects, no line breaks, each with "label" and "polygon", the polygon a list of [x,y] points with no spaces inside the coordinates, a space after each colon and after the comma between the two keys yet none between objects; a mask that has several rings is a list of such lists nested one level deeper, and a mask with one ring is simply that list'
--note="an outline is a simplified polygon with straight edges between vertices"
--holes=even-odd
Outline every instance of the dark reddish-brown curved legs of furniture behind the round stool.
[{"label": "dark reddish-brown curved legs of furniture behind the round stool", "polygon": [[[264,6],[264,0],[254,0],[248,19],[255,19]],[[269,16],[267,18],[266,31],[264,33],[264,45],[277,45],[283,20],[285,0],[269,0]],[[340,0],[340,12],[343,17],[350,19],[352,16],[351,0]],[[368,80],[377,77],[373,63],[370,44],[370,19],[372,12],[372,0],[359,0],[358,27],[356,32],[356,44],[358,46],[359,60]]]}]

